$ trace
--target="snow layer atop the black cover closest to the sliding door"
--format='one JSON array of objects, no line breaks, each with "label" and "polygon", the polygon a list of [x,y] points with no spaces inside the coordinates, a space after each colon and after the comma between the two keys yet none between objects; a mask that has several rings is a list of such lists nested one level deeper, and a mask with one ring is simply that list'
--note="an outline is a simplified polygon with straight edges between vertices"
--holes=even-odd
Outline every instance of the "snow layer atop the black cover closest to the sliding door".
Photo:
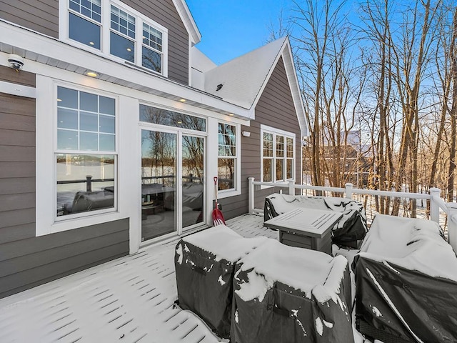
[{"label": "snow layer atop the black cover closest to the sliding door", "polygon": [[[266,239],[266,237],[244,238],[233,232],[229,227],[218,225],[196,234],[191,234],[182,240],[206,252],[215,254],[214,261],[216,262],[226,259],[226,261],[235,263],[238,259],[251,252],[252,249],[256,249]],[[179,254],[179,252],[176,251],[176,254]]]}]

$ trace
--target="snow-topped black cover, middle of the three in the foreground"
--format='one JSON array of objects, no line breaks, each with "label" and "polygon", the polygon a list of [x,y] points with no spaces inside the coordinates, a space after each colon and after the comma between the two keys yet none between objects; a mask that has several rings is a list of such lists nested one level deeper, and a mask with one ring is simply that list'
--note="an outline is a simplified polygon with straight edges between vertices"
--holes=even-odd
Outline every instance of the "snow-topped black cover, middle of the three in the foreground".
[{"label": "snow-topped black cover, middle of the three in the foreground", "polygon": [[348,260],[268,239],[236,264],[232,343],[351,343]]}]

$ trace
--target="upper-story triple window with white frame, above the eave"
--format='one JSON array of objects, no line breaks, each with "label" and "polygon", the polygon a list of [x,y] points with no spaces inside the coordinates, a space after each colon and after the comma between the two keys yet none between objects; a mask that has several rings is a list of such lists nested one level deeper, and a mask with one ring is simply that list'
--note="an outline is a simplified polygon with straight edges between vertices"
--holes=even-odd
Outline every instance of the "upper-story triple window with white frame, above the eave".
[{"label": "upper-story triple window with white frame, above the eave", "polygon": [[[61,37],[167,76],[168,30],[119,0],[66,0]],[[63,12],[61,12],[63,14]]]}]

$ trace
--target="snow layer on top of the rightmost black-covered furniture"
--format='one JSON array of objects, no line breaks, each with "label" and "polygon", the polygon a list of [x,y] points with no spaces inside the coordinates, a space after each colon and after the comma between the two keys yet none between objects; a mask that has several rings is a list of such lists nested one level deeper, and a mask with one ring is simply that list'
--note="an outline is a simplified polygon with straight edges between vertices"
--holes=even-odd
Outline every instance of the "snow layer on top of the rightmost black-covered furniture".
[{"label": "snow layer on top of the rightmost black-covered furniture", "polygon": [[378,214],[360,250],[361,257],[457,281],[457,258],[439,225],[426,219]]}]

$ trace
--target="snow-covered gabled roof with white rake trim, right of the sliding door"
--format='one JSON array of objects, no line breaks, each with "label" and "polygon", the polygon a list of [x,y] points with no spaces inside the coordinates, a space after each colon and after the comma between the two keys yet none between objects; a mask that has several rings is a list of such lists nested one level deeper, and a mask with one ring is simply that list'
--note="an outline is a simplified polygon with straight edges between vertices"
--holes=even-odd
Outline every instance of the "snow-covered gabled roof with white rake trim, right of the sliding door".
[{"label": "snow-covered gabled roof with white rake trim, right of the sliding door", "polygon": [[[302,136],[308,135],[305,111],[287,37],[248,52],[204,73],[204,91],[254,111],[263,89],[282,56]],[[218,90],[219,89],[219,90]]]}]

